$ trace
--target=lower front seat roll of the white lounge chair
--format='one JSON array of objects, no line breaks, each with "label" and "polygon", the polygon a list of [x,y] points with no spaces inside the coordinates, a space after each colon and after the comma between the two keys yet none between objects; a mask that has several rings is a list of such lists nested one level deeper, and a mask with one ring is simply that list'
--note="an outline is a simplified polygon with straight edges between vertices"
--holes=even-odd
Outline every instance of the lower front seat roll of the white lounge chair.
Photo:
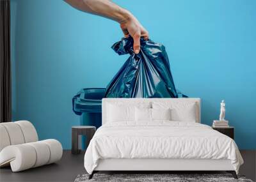
[{"label": "lower front seat roll of the white lounge chair", "polygon": [[12,171],[18,172],[56,162],[61,156],[62,146],[54,139],[12,145],[0,152],[0,167],[10,163]]}]

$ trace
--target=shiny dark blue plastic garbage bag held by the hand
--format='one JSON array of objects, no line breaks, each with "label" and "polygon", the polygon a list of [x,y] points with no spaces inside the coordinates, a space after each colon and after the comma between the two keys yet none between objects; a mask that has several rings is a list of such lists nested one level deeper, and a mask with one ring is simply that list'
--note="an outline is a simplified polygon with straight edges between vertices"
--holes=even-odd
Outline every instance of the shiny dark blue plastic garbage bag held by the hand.
[{"label": "shiny dark blue plastic garbage bag held by the hand", "polygon": [[133,52],[131,36],[122,38],[112,46],[117,54],[131,56],[108,84],[105,97],[177,98],[164,45],[143,38],[140,43],[139,54]]}]

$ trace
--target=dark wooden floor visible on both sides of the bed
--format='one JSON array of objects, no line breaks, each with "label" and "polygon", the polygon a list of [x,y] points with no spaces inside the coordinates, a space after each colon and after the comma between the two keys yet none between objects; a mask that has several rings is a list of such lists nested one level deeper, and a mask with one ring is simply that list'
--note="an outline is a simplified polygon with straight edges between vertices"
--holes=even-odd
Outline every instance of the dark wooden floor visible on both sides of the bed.
[{"label": "dark wooden floor visible on both sides of the bed", "polygon": [[[256,179],[256,151],[241,151],[244,164],[239,173],[253,181]],[[63,151],[63,157],[58,163],[29,169],[22,172],[12,172],[10,167],[0,169],[0,181],[74,181],[78,174],[86,173],[83,165],[84,153],[72,155]]]}]

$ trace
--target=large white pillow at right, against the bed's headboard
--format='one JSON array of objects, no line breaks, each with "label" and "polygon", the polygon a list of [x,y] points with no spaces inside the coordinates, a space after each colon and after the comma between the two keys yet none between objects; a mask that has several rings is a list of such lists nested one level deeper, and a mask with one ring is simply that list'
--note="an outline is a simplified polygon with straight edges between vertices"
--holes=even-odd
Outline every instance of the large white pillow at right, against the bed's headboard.
[{"label": "large white pillow at right, against the bed's headboard", "polygon": [[195,102],[153,102],[153,109],[171,110],[172,121],[196,122],[198,118],[197,105]]}]

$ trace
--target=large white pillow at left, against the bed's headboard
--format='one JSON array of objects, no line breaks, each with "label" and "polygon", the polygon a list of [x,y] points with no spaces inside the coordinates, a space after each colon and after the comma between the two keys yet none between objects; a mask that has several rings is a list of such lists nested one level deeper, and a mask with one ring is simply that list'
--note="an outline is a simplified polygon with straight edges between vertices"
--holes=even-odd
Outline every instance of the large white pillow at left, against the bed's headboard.
[{"label": "large white pillow at left, against the bed's headboard", "polygon": [[135,121],[135,107],[150,108],[151,103],[108,103],[107,105],[107,122],[118,121]]}]

